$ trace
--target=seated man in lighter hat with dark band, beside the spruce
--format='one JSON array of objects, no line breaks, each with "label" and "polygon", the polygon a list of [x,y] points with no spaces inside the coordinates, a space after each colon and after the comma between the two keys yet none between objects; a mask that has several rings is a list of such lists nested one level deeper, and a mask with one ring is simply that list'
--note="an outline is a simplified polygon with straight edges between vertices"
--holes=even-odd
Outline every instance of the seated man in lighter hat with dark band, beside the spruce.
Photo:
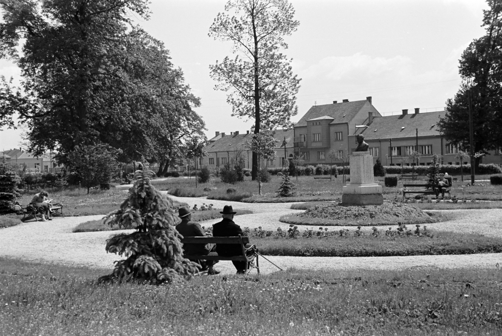
[{"label": "seated man in lighter hat with dark band, beside the spruce", "polygon": [[[183,237],[207,237],[206,233],[202,230],[199,223],[190,221],[192,219],[193,211],[190,211],[188,205],[182,206],[178,209],[178,217],[181,218],[181,223],[176,226],[176,230]],[[215,248],[214,244],[183,244],[183,251],[186,254],[193,256],[207,256],[209,252]],[[201,271],[206,271],[208,275],[219,274],[213,267],[217,261],[214,260],[191,260],[198,263],[202,268]]]}]

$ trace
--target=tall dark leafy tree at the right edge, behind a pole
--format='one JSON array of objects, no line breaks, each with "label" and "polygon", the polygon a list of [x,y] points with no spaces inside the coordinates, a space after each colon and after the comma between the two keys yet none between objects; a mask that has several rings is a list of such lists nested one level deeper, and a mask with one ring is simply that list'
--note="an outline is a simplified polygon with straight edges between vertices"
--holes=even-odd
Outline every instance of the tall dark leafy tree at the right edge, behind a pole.
[{"label": "tall dark leafy tree at the right edge, behind a pole", "polygon": [[487,3],[490,8],[484,11],[482,25],[486,34],[464,50],[459,64],[463,82],[455,97],[446,101],[448,113],[438,123],[447,141],[470,151],[471,104],[476,170],[482,154],[502,141],[502,1]]}]

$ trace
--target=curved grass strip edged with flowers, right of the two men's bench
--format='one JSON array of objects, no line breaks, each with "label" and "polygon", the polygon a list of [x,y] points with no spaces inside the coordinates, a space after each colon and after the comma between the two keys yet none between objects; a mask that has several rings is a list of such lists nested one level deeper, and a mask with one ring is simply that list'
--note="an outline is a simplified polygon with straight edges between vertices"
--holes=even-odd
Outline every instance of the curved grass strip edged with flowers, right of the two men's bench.
[{"label": "curved grass strip edged with flowers, right of the two men's bench", "polygon": [[433,237],[389,237],[385,235],[386,229],[380,230],[378,237],[367,232],[362,236],[354,236],[356,231],[350,231],[342,233],[343,237],[335,234],[318,238],[313,231],[312,238],[270,236],[251,237],[250,241],[258,246],[261,254],[268,256],[389,257],[502,252],[502,239],[495,237],[435,230],[428,230]]}]

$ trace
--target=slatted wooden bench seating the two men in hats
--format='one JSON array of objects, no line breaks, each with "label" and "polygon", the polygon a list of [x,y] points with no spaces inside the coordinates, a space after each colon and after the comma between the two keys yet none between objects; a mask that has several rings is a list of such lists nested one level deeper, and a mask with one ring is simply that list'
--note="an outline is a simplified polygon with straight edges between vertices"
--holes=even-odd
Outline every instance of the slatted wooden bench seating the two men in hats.
[{"label": "slatted wooden bench seating the two men in hats", "polygon": [[[181,239],[183,244],[239,244],[241,254],[232,257],[219,256],[216,252],[210,252],[205,256],[183,255],[183,258],[190,260],[230,260],[230,261],[245,261],[247,269],[245,274],[248,274],[252,268],[256,268],[260,274],[258,265],[258,249],[255,245],[249,245],[249,237],[184,237]],[[256,266],[255,266],[256,258]]]}]

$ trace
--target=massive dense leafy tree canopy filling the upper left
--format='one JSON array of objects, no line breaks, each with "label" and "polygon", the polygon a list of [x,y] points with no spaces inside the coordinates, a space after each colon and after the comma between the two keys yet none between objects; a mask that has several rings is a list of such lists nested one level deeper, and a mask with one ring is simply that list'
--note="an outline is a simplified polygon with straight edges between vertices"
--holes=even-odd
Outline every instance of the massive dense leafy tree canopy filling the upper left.
[{"label": "massive dense leafy tree canopy filling the upper left", "polygon": [[76,145],[98,143],[120,149],[121,161],[165,161],[183,141],[180,133],[190,134],[182,126],[203,132],[203,123],[187,122],[197,119],[191,107],[200,102],[169,51],[130,19],[131,12],[148,19],[146,4],[1,1],[0,56],[21,68],[23,90],[4,81],[0,122],[12,126],[18,113],[29,126],[30,149],[56,149],[63,163]]}]

